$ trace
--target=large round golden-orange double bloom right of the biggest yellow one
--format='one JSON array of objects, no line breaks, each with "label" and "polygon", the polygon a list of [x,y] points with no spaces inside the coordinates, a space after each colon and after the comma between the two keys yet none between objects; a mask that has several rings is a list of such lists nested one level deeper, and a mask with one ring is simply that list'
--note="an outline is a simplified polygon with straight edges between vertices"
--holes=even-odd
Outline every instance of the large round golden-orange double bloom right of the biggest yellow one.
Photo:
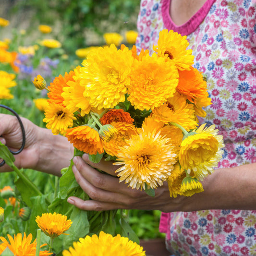
[{"label": "large round golden-orange double bloom right of the biggest yellow one", "polygon": [[178,85],[178,70],[172,63],[153,54],[134,60],[128,100],[139,110],[159,107],[173,96]]}]

